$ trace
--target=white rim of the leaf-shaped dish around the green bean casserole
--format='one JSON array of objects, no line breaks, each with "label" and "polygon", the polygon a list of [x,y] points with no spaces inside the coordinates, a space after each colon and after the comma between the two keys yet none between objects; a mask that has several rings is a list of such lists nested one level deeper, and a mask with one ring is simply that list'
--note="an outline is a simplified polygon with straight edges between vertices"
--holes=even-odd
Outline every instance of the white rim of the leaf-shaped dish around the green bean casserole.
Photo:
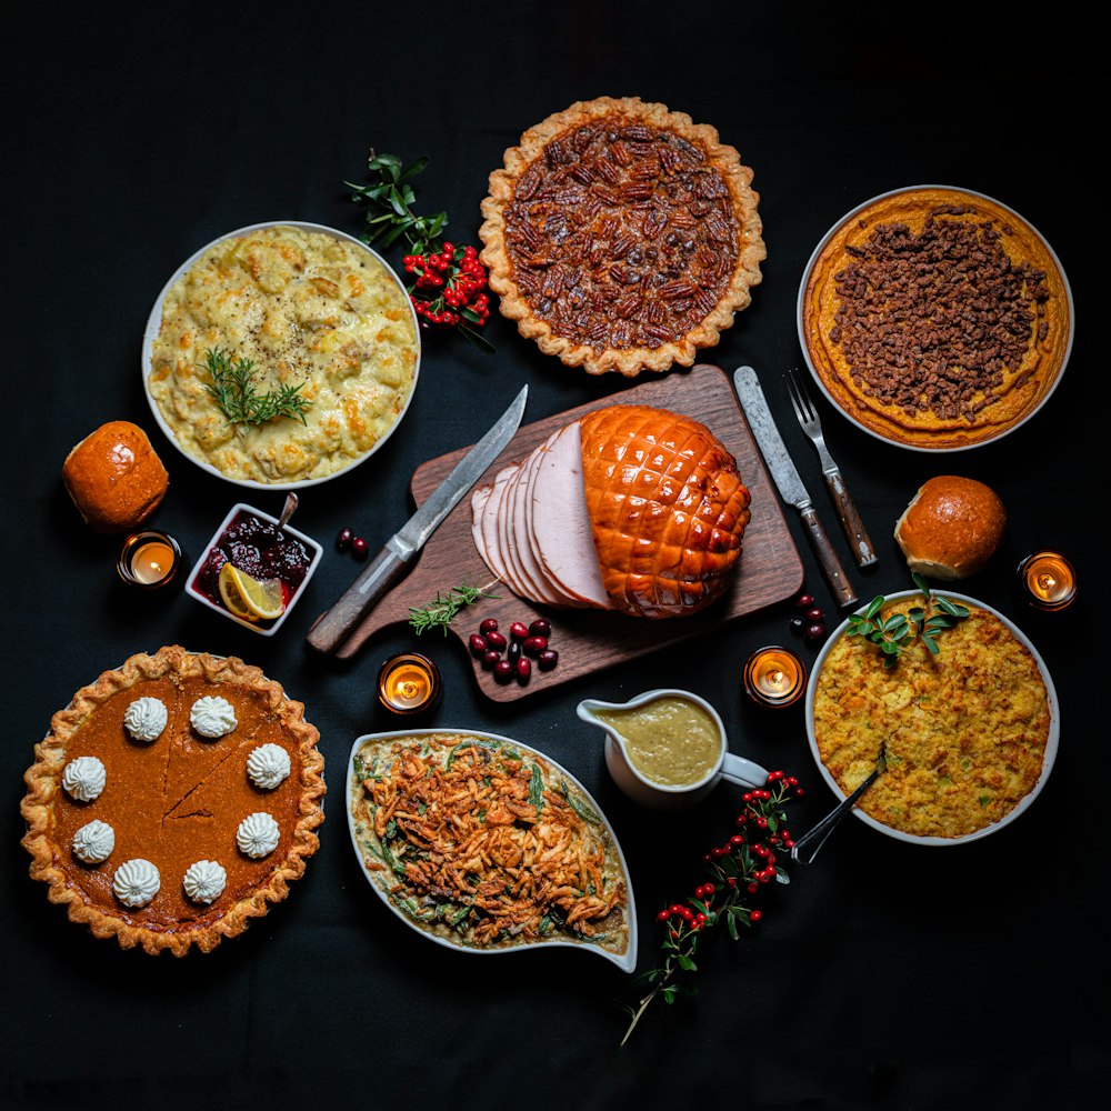
[{"label": "white rim of the leaf-shaped dish around the green bean casserole", "polygon": [[[464,737],[474,737],[480,741],[486,740],[496,744],[508,744],[520,752],[528,753],[529,755],[536,758],[542,764],[547,764],[552,771],[559,772],[559,774],[562,775],[568,783],[582,795],[605,827],[605,830],[609,833],[610,844],[617,855],[617,863],[624,878],[624,915],[629,927],[629,943],[625,947],[624,952],[617,953],[588,940],[574,941],[570,938],[553,938],[546,939],[543,941],[522,942],[519,945],[508,945],[503,948],[467,945],[461,941],[456,941],[451,938],[441,937],[438,933],[431,933],[428,930],[422,930],[418,923],[404,913],[404,911],[394,905],[393,901],[386,893],[386,891],[383,891],[382,888],[374,882],[372,873],[366,868],[363,850],[359,844],[359,838],[356,833],[356,819],[352,813],[352,800],[356,798],[356,791],[361,791],[363,788],[361,780],[358,780],[354,774],[354,758],[359,753],[359,750],[368,742],[377,743],[407,737],[433,737],[437,734],[441,737],[458,735],[460,739]],[[528,744],[522,744],[520,741],[512,738],[501,737],[498,733],[487,733],[478,729],[401,729],[387,733],[364,733],[362,737],[357,738],[356,742],[351,745],[351,752],[348,755],[347,783],[344,790],[347,792],[344,798],[347,799],[346,809],[348,818],[348,832],[351,834],[351,847],[354,849],[356,859],[359,861],[359,865],[362,869],[363,875],[367,878],[367,882],[370,884],[371,890],[378,895],[379,899],[382,900],[383,903],[386,903],[387,907],[389,907],[393,914],[401,919],[401,921],[404,922],[411,930],[416,930],[419,934],[421,934],[421,937],[428,938],[430,941],[434,941],[437,944],[443,945],[447,949],[453,949],[457,952],[462,953],[481,953],[483,955],[492,955],[498,953],[519,953],[532,949],[559,947],[563,949],[579,949],[591,953],[598,953],[600,957],[604,957],[608,961],[612,961],[618,965],[618,968],[625,972],[632,972],[637,968],[637,904],[633,900],[632,881],[629,874],[629,867],[625,863],[624,853],[621,851],[621,845],[618,842],[617,833],[614,833],[613,827],[610,825],[609,820],[602,813],[601,807],[599,807],[593,798],[591,798],[590,792],[574,778],[574,775],[572,775],[561,764],[558,764],[554,760],[552,760],[551,757],[544,755],[543,752],[540,752]]]}]

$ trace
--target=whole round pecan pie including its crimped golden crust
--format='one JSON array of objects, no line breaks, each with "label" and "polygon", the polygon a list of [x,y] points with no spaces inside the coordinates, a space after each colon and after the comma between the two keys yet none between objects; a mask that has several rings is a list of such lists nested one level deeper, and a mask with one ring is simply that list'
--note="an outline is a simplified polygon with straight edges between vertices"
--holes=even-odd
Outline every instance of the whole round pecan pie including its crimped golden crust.
[{"label": "whole round pecan pie including its crimped golden crust", "polygon": [[760,282],[751,182],[717,130],[664,104],[602,97],[549,117],[482,202],[502,314],[591,374],[689,367]]}]

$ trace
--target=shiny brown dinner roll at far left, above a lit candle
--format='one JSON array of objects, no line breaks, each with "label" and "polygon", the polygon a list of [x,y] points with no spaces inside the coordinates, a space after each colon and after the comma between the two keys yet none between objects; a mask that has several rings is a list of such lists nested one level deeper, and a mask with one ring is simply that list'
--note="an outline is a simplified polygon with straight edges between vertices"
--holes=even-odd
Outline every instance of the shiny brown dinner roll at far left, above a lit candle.
[{"label": "shiny brown dinner roll at far left, above a lit candle", "polygon": [[113,420],[70,451],[62,481],[93,529],[127,532],[154,512],[169,477],[147,433],[130,421]]}]

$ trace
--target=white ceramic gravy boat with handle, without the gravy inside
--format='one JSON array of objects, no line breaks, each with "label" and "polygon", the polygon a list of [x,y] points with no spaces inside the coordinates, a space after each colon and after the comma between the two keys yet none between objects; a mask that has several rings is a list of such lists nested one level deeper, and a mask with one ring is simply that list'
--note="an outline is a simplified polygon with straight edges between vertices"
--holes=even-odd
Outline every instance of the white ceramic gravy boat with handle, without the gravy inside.
[{"label": "white ceramic gravy boat with handle, without the gravy inside", "polygon": [[[648,779],[629,759],[625,747],[625,739],[615,731],[614,727],[598,717],[599,712],[607,710],[635,710],[650,702],[662,698],[687,699],[695,705],[701,707],[718,727],[718,735],[721,739],[721,749],[718,753],[717,762],[710,770],[694,783],[683,783],[671,785],[657,783]],[[602,702],[598,699],[583,699],[578,707],[579,717],[592,725],[598,725],[605,731],[605,767],[609,769],[613,781],[621,790],[645,807],[653,807],[658,810],[674,810],[681,807],[689,807],[699,799],[708,794],[719,780],[727,780],[741,787],[763,787],[768,782],[768,772],[760,764],[743,757],[733,755],[725,748],[725,727],[721,717],[709,702],[690,691],[677,689],[661,689],[645,691],[638,694],[628,702]]]}]

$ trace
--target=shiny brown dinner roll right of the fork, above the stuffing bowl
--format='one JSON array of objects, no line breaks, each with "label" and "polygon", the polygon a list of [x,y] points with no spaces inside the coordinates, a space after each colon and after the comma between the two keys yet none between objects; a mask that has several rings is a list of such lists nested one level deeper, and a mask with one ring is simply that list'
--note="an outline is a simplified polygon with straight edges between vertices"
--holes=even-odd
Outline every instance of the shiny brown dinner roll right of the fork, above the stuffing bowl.
[{"label": "shiny brown dinner roll right of the fork, above the stuffing bowl", "polygon": [[895,523],[911,571],[933,579],[974,574],[999,547],[1007,510],[991,487],[939,474],[921,487]]}]

